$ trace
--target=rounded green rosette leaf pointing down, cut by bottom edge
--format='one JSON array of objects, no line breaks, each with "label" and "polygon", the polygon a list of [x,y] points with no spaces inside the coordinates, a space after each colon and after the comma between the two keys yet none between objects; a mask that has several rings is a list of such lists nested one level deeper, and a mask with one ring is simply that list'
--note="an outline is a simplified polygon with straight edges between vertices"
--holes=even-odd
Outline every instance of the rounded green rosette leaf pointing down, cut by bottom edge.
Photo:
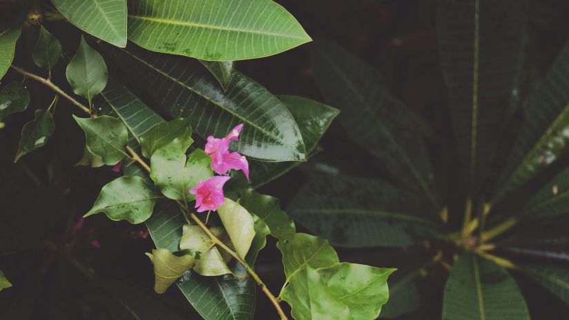
[{"label": "rounded green rosette leaf pointing down, cut by bottom edge", "polygon": [[530,319],[516,281],[496,263],[463,253],[446,282],[443,320]]}]

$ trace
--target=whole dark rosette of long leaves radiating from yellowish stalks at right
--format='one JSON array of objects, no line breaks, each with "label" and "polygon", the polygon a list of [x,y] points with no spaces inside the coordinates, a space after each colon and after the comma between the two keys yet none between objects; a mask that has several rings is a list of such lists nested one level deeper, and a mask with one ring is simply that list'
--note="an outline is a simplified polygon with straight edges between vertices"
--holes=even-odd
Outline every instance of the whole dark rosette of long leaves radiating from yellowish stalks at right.
[{"label": "whole dark rosette of long leaves radiating from yellowish stalks at right", "polygon": [[[450,191],[439,188],[416,117],[373,67],[334,43],[313,50],[321,93],[343,110],[340,121],[355,143],[393,179],[313,174],[292,201],[291,216],[335,246],[419,245],[434,256],[390,283],[383,317],[420,305],[415,282],[433,266],[450,271],[442,319],[530,319],[512,273],[569,303],[563,263],[569,252],[563,217],[569,212],[569,44],[539,88],[521,99],[526,10],[523,1],[438,3],[441,66],[461,168]],[[513,141],[508,132],[515,132]],[[497,157],[505,150],[506,157]]]}]

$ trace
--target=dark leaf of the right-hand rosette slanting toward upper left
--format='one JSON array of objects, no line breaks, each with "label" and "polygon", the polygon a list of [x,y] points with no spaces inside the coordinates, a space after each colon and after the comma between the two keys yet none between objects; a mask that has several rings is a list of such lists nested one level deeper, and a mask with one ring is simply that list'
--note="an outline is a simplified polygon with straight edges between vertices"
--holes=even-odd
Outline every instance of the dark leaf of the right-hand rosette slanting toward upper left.
[{"label": "dark leaf of the right-hand rosette slanting toward upper left", "polygon": [[423,192],[438,209],[432,168],[417,126],[374,68],[328,42],[314,47],[312,64],[320,91],[342,111],[339,120],[352,139],[374,154],[404,186]]}]

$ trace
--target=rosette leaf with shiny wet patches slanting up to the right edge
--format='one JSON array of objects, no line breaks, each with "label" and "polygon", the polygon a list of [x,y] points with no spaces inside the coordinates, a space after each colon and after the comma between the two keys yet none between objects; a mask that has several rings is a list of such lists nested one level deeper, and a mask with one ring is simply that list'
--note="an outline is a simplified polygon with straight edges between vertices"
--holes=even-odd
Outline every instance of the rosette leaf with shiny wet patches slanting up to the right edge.
[{"label": "rosette leaf with shiny wet patches slanting up to the right edge", "polygon": [[567,149],[569,134],[569,43],[530,97],[506,168],[500,175],[492,203],[501,201],[528,182]]}]

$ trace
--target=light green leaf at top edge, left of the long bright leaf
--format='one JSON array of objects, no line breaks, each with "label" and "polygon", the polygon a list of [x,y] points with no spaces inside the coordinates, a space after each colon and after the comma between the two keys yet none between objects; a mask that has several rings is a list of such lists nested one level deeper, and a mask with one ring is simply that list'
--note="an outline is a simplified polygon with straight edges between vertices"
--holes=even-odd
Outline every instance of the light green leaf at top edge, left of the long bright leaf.
[{"label": "light green leaf at top edge, left of the long bright leaf", "polygon": [[124,48],[126,0],[52,0],[55,8],[77,28]]}]

